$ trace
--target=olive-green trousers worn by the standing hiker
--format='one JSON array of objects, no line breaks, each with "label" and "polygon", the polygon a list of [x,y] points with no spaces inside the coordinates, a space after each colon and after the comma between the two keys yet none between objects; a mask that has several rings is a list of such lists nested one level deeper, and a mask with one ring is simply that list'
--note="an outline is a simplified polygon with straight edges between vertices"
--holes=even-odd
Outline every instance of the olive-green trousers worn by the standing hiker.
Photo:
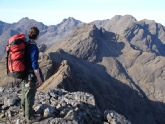
[{"label": "olive-green trousers worn by the standing hiker", "polygon": [[35,100],[35,94],[37,91],[36,81],[33,79],[32,84],[26,86],[28,82],[28,79],[24,79],[22,81],[21,106],[26,119],[30,119],[30,117],[34,116],[33,105]]}]

